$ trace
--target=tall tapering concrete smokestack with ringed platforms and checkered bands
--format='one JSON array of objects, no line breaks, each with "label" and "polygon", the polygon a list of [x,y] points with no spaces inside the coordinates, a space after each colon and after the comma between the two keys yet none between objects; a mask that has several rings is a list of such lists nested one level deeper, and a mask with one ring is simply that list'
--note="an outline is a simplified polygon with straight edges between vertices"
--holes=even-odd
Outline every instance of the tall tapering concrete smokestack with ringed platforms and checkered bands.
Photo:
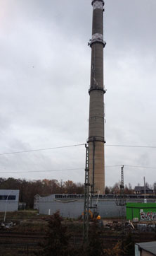
[{"label": "tall tapering concrete smokestack with ringed platforms and checkered bands", "polygon": [[93,192],[105,193],[104,161],[104,85],[103,85],[103,0],[91,1],[93,6],[91,47],[91,86],[89,89],[89,182]]}]

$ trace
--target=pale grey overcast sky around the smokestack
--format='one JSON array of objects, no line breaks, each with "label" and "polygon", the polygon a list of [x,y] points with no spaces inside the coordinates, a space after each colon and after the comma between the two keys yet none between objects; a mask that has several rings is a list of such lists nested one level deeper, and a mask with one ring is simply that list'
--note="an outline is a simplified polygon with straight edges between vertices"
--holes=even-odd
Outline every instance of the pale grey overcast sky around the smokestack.
[{"label": "pale grey overcast sky around the smokestack", "polygon": [[[156,167],[156,149],[107,146],[156,146],[155,13],[155,0],[105,0],[105,185],[120,180],[107,166]],[[0,0],[1,153],[86,142],[91,23],[91,0]],[[8,154],[0,176],[84,182],[84,165],[84,146]],[[125,166],[124,182],[155,171]]]}]

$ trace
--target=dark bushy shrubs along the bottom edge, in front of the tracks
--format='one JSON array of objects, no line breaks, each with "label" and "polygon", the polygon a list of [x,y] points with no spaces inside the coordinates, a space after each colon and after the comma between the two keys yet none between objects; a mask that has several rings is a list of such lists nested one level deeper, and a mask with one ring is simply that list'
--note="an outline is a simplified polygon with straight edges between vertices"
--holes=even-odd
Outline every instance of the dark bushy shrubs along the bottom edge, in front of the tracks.
[{"label": "dark bushy shrubs along the bottom edge, in front of the tracks", "polygon": [[67,226],[63,225],[63,219],[59,212],[51,216],[48,221],[48,229],[44,243],[41,243],[41,250],[35,252],[35,255],[41,256],[124,256],[134,255],[134,243],[131,235],[126,236],[122,241],[106,245],[105,240],[100,236],[100,228],[98,221],[94,220],[89,228],[89,240],[85,243],[79,243],[79,246],[74,246],[70,243],[72,236],[71,231]]}]

